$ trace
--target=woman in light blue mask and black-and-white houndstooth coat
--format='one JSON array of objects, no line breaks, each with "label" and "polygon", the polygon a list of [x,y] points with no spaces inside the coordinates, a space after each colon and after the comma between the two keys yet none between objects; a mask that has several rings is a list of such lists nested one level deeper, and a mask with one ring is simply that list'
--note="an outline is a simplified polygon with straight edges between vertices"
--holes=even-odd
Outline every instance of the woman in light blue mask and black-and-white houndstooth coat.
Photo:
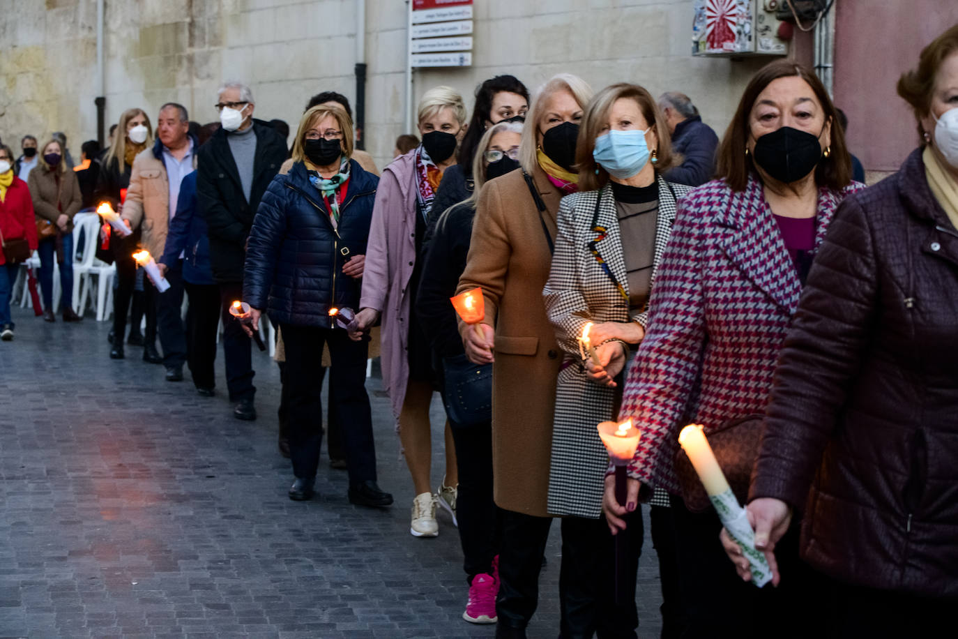
[{"label": "woman in light blue mask and black-and-white houndstooth coat", "polygon": [[[559,205],[556,253],[542,291],[565,352],[556,390],[548,510],[564,516],[563,576],[587,584],[577,608],[580,626],[569,619],[570,626],[582,628],[583,636],[597,628],[619,636],[638,626],[642,512],[624,515],[629,552],[621,559],[630,591],[628,604],[616,605],[614,542],[601,516],[609,458],[596,424],[618,414],[622,373],[648,326],[652,279],[672,231],[676,201],[691,188],[662,178],[661,171],[673,166],[669,129],[649,92],[635,84],[608,86],[589,103],[576,157],[580,191]],[[580,349],[583,335],[591,356],[584,346]],[[653,504],[667,508],[668,495],[661,493]],[[666,548],[659,552],[663,583],[669,583],[674,559]],[[666,604],[677,605],[678,593],[663,590]]]}]

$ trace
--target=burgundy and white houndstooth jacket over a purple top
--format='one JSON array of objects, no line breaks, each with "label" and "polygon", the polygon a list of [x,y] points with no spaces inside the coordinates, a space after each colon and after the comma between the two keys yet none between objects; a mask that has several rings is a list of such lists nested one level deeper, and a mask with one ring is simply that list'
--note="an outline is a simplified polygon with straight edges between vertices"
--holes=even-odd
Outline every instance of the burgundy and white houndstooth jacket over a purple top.
[{"label": "burgundy and white houndstooth jacket over a purple top", "polygon": [[[815,251],[838,203],[861,188],[819,189]],[[741,193],[715,180],[679,202],[619,416],[642,431],[630,477],[679,494],[682,426],[702,423],[708,433],[764,412],[801,287],[754,176]]]}]

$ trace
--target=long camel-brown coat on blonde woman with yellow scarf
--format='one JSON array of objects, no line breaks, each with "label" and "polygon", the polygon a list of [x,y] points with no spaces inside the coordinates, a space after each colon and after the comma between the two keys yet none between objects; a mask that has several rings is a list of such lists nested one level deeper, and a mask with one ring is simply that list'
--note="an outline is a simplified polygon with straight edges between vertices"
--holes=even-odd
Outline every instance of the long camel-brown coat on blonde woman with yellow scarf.
[{"label": "long camel-brown coat on blonde woman with yellow scarf", "polygon": [[[546,317],[542,287],[552,254],[542,221],[556,237],[561,194],[533,173],[546,211],[539,216],[522,171],[496,178],[479,194],[466,270],[458,292],[481,286],[495,328],[492,365],[492,468],[495,503],[517,513],[546,510],[556,379],[562,357]],[[460,332],[471,330],[460,323]]]}]

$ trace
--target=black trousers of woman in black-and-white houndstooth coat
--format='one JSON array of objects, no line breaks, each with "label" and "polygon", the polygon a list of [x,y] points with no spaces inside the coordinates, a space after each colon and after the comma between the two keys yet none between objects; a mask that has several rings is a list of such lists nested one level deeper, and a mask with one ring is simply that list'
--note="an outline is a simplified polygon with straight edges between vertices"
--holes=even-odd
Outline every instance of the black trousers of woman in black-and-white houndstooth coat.
[{"label": "black trousers of woman in black-and-white houndstooth coat", "polygon": [[615,537],[604,517],[562,519],[562,567],[559,570],[561,639],[635,637],[639,615],[635,608],[635,580],[642,554],[642,509],[625,517],[626,554],[620,558],[626,571],[623,605],[615,603]]}]

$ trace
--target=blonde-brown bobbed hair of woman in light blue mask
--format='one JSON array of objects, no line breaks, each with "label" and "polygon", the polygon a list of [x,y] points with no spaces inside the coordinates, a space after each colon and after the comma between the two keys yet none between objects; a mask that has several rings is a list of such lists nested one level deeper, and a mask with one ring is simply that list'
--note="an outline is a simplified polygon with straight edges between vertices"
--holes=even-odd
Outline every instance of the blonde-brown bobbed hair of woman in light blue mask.
[{"label": "blonde-brown bobbed hair of woman in light blue mask", "polygon": [[623,98],[633,100],[639,105],[646,124],[655,131],[655,137],[658,140],[657,147],[654,149],[655,172],[671,169],[674,165],[672,138],[669,135],[669,127],[666,126],[665,116],[662,115],[658,104],[655,103],[649,91],[638,84],[619,82],[606,86],[597,93],[585,109],[582,126],[579,127],[579,140],[576,141],[576,168],[579,170],[580,191],[596,191],[608,182],[608,172],[592,157],[592,150],[596,147],[596,138],[602,134],[603,127],[608,123],[612,104]]}]

